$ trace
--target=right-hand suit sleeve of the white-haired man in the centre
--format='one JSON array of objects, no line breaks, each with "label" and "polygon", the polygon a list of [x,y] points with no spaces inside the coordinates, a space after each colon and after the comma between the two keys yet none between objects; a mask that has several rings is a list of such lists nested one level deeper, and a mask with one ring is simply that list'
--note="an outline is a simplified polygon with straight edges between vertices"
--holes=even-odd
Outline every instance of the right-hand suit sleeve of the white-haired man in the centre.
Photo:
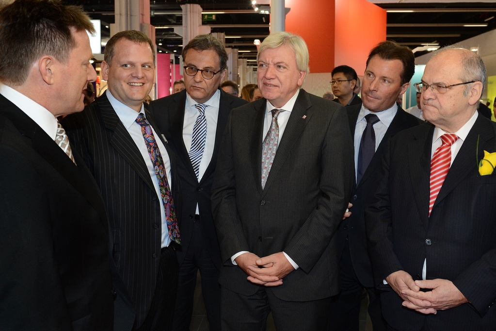
[{"label": "right-hand suit sleeve of the white-haired man in the centre", "polygon": [[320,151],[317,206],[284,248],[284,252],[305,272],[310,272],[327,249],[343,218],[353,188],[353,143],[346,110],[340,106],[328,111],[333,114]]}]

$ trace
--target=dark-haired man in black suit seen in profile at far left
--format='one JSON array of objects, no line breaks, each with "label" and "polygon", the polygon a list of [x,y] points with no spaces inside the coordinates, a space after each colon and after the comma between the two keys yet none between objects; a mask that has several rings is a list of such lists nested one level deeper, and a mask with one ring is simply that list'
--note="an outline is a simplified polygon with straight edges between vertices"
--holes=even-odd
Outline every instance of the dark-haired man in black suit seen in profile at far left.
[{"label": "dark-haired man in black suit seen in profile at far left", "polygon": [[57,121],[96,79],[86,30],[56,1],[0,10],[0,330],[113,330],[105,206]]}]

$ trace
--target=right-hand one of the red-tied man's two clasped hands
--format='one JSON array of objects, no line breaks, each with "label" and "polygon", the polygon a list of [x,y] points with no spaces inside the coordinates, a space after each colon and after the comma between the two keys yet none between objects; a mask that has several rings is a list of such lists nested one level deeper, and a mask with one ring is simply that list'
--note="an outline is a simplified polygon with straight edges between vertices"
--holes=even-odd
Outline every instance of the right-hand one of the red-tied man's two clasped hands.
[{"label": "right-hand one of the red-tied man's two clasped hands", "polygon": [[[435,314],[436,310],[446,310],[457,307],[468,302],[467,298],[456,288],[452,281],[447,279],[433,280],[416,280],[415,284],[420,288],[432,288],[429,292],[413,292],[405,290],[404,295],[408,301],[403,303],[403,306],[424,314]],[[429,309],[415,305],[413,300],[422,300],[431,302],[432,306]]]}]

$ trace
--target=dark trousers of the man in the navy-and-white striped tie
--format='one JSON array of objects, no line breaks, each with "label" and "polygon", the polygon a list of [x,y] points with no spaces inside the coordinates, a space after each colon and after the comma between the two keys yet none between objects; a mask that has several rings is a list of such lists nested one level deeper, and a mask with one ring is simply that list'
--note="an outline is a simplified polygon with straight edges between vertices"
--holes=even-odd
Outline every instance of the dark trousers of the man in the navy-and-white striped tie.
[{"label": "dark trousers of the man in the navy-and-white striped tie", "polygon": [[193,296],[196,274],[200,269],[201,293],[207,312],[210,331],[220,331],[219,270],[207,250],[200,220],[194,220],[193,234],[186,257],[179,268],[178,296],[174,313],[173,331],[188,331],[193,314]]}]

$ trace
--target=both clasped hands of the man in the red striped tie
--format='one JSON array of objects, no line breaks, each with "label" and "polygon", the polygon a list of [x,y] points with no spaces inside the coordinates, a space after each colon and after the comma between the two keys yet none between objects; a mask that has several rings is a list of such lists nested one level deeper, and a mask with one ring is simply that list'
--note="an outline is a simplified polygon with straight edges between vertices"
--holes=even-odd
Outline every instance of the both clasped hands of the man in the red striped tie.
[{"label": "both clasped hands of the man in the red striped tie", "polygon": [[[467,298],[447,279],[416,280],[400,270],[386,277],[388,284],[404,300],[402,305],[423,314],[436,314],[468,302]],[[432,289],[422,292],[421,288]]]}]

